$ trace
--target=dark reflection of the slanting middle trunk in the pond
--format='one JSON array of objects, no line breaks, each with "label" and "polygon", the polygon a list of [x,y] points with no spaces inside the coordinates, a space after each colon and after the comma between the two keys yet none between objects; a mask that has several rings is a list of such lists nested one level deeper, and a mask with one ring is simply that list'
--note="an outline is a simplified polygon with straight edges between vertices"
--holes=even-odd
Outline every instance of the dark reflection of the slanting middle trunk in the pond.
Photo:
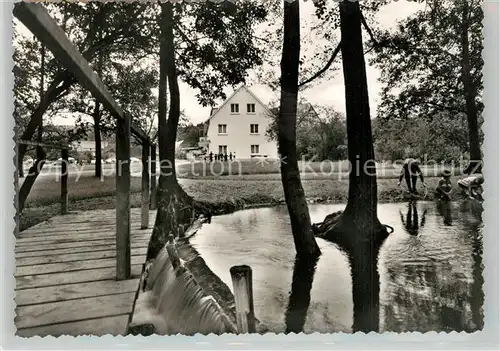
[{"label": "dark reflection of the slanting middle trunk in the pond", "polygon": [[286,333],[301,333],[304,330],[318,259],[295,257],[292,290],[285,314]]}]

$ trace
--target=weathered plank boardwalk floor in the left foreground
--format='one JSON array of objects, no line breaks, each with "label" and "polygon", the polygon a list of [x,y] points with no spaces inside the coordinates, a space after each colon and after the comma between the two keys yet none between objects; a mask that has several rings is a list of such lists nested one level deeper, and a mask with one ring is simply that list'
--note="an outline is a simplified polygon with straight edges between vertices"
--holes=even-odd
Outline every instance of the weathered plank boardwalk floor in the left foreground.
[{"label": "weathered plank boardwalk floor in the left foreground", "polygon": [[133,278],[116,280],[115,210],[51,218],[16,242],[17,335],[122,335],[132,312],[150,228],[131,210]]}]

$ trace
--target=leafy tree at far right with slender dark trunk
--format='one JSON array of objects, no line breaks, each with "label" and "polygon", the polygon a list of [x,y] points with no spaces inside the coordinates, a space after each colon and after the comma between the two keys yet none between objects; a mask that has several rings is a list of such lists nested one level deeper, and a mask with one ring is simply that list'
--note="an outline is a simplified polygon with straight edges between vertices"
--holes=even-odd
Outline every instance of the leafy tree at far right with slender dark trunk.
[{"label": "leafy tree at far right with slender dark trunk", "polygon": [[377,34],[380,118],[467,118],[470,167],[481,167],[482,2],[428,0],[396,31]]}]

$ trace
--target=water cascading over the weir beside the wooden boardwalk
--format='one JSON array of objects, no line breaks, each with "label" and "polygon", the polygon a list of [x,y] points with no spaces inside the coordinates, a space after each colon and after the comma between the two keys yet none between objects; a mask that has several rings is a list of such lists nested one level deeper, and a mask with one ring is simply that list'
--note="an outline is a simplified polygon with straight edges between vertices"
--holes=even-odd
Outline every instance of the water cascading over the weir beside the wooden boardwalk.
[{"label": "water cascading over the weir beside the wooden boardwalk", "polygon": [[[216,300],[203,291],[182,260],[177,261],[180,262],[177,266],[167,246],[145,265],[129,333],[236,333],[235,323]],[[171,244],[169,250],[172,249],[176,250]]]}]

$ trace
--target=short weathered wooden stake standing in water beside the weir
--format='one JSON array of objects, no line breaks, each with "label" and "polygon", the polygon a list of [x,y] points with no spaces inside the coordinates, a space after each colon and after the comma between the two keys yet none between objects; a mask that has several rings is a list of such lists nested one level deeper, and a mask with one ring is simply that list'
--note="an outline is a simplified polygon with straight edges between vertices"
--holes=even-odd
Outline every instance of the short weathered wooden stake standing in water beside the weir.
[{"label": "short weathered wooden stake standing in water beside the weir", "polygon": [[252,268],[246,265],[233,266],[229,272],[233,281],[238,333],[255,333]]}]

